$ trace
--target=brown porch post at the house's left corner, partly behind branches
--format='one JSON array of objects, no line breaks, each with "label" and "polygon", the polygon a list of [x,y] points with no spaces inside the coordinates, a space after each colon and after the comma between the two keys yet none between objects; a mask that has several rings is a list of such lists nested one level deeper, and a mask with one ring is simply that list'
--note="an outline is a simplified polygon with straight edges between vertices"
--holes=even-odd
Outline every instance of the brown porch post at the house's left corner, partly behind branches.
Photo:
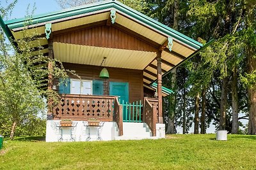
[{"label": "brown porch post at the house's left corner, partly behind branches", "polygon": [[[48,61],[48,92],[51,92],[52,85],[53,85],[53,77],[52,77],[52,58],[53,58],[53,50],[52,50],[52,37],[48,39],[48,50],[49,50],[49,61]],[[53,119],[52,113],[52,98],[48,96],[47,99],[48,104],[48,113],[47,113],[47,120]]]}]

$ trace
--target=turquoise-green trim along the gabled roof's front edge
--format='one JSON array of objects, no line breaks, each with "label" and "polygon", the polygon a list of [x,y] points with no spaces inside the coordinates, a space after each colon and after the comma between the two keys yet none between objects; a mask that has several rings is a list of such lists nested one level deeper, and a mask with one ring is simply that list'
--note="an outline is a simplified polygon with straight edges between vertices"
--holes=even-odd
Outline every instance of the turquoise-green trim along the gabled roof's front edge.
[{"label": "turquoise-green trim along the gabled roof's front edge", "polygon": [[[51,22],[53,20],[61,19],[61,18],[67,18],[67,17],[73,17],[76,15],[81,15],[85,13],[91,13],[94,11],[100,11],[100,10],[107,10],[115,8],[116,10],[121,11],[122,13],[125,13],[126,15],[135,18],[136,20],[139,20],[143,24],[146,24],[157,31],[162,32],[163,34],[166,34],[167,36],[172,36],[175,39],[178,39],[182,43],[185,43],[189,46],[192,46],[193,48],[200,49],[203,45],[194,39],[189,38],[188,36],[185,36],[184,34],[181,34],[178,31],[173,30],[172,28],[161,24],[160,22],[157,22],[156,20],[147,17],[146,15],[143,15],[142,13],[133,10],[132,8],[126,6],[125,4],[122,4],[118,1],[103,1],[100,3],[93,3],[93,4],[87,4],[83,6],[77,6],[75,8],[69,8],[67,10],[61,10],[56,11],[52,13],[45,13],[42,15],[35,15],[31,19],[31,25],[33,24],[40,24],[45,22]],[[110,11],[110,10],[109,10]],[[116,11],[118,12],[118,11]],[[16,29],[19,27],[24,27],[24,21],[26,21],[26,18],[19,18],[15,20],[8,20],[5,21],[5,27],[8,27],[9,29]],[[1,24],[2,25],[2,24]],[[3,27],[3,25],[2,25]]]}]

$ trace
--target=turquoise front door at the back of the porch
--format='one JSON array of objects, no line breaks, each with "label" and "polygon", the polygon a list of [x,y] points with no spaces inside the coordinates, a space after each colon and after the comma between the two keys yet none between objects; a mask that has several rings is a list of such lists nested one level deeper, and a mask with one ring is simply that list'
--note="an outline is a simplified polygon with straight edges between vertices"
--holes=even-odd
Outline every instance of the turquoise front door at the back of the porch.
[{"label": "turquoise front door at the back of the porch", "polygon": [[118,96],[120,103],[129,103],[129,83],[109,82],[109,95]]}]

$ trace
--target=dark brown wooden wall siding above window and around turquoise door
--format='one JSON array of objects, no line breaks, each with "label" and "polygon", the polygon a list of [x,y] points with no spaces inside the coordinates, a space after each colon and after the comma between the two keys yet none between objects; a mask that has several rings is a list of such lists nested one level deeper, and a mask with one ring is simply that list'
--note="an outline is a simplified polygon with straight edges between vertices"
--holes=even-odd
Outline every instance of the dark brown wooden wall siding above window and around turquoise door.
[{"label": "dark brown wooden wall siding above window and around turquoise door", "polygon": [[[100,80],[99,74],[102,67],[83,64],[63,63],[66,69],[76,71],[76,74],[85,80]],[[109,71],[108,81],[129,83],[129,102],[143,101],[143,71],[136,69],[119,69],[107,67]],[[70,75],[70,78],[76,78]]]}]

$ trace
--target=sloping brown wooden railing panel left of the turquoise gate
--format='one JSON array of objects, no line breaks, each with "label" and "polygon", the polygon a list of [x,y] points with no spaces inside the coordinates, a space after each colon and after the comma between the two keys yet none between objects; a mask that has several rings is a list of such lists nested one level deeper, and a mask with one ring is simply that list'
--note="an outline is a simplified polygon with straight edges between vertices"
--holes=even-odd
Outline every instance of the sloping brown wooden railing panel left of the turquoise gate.
[{"label": "sloping brown wooden railing panel left of the turquoise gate", "polygon": [[123,136],[123,106],[118,102],[118,97],[115,98],[114,121],[119,128],[119,136]]}]

